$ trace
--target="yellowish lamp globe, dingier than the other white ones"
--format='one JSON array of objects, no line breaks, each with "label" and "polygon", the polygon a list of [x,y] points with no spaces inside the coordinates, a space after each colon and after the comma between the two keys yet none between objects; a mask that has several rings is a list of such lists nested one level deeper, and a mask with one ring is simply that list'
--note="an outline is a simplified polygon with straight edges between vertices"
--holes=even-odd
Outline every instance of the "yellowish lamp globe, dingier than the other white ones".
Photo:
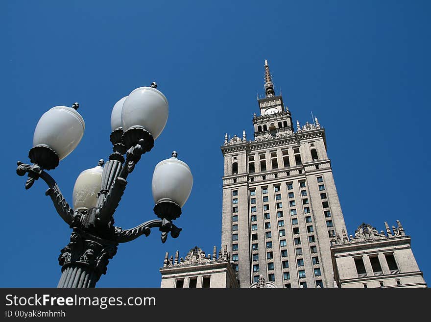
[{"label": "yellowish lamp globe, dingier than the other white ones", "polygon": [[103,167],[96,166],[78,175],[73,187],[73,209],[88,210],[97,205],[97,193],[102,187]]}]

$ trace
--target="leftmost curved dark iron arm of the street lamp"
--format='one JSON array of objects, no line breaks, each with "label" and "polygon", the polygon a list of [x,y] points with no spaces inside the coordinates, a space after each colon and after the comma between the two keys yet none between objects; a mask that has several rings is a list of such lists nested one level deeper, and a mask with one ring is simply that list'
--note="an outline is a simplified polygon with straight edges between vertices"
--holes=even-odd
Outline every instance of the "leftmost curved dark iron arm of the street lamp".
[{"label": "leftmost curved dark iron arm of the street lamp", "polygon": [[[49,196],[54,204],[54,208],[57,211],[58,215],[65,221],[67,224],[71,224],[73,220],[73,209],[69,206],[66,199],[63,197],[60,187],[57,182],[55,182],[54,178],[50,176],[47,172],[41,169],[38,165],[29,165],[22,163],[21,161],[17,162],[17,174],[25,175],[25,173],[29,174],[29,179],[27,182],[32,179],[31,184],[34,180],[41,178],[48,185],[48,190],[45,192],[46,196]],[[31,185],[30,185],[31,186]]]}]

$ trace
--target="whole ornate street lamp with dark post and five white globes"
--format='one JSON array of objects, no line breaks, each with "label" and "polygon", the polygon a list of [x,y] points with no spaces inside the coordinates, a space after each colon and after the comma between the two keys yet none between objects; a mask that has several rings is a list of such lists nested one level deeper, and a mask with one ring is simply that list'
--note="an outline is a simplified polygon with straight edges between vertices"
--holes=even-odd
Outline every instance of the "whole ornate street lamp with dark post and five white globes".
[{"label": "whole ornate street lamp with dark post and five white globes", "polygon": [[17,174],[28,173],[25,189],[39,178],[44,180],[48,185],[46,195],[72,228],[70,243],[61,249],[58,258],[62,275],[57,287],[95,287],[119,243],[148,236],[151,228],[162,232],[162,243],[168,233],[172,238],[180,234],[181,228],[172,221],[181,215],[181,207],[192,191],[193,177],[175,151],[171,158],[159,162],[153,173],[153,210],[159,219],[131,229],[114,225],[114,212],[126,188],[127,176],[142,154],[152,149],[168,120],[168,100],[156,87],[153,82],[151,87],[137,88],[114,105],[110,136],[113,153],[106,164],[100,160],[95,168],[79,174],[73,188],[74,209],[46,171],[56,168],[84,134],[85,123],[77,112],[78,103],[72,108],[56,106],[46,112],[34,132],[33,148],[28,155],[32,164],[18,161]]}]

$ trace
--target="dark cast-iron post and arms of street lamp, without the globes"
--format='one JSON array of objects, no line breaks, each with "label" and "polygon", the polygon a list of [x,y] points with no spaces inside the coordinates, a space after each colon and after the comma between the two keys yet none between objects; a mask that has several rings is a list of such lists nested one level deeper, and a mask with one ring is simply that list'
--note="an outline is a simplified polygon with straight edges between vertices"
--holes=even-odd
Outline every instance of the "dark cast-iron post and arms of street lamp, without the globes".
[{"label": "dark cast-iron post and arms of street lamp, without the globes", "polygon": [[[154,87],[153,84],[151,87]],[[74,108],[78,106],[77,103],[73,105]],[[57,213],[73,230],[70,243],[61,249],[58,258],[62,275],[57,287],[95,287],[100,276],[106,273],[109,260],[117,253],[119,243],[132,241],[142,235],[148,236],[151,228],[159,228],[162,232],[162,243],[165,243],[169,232],[172,238],[177,238],[181,232],[181,228],[172,223],[181,215],[181,207],[173,201],[158,202],[154,206],[154,213],[160,218],[158,220],[150,220],[125,230],[114,225],[114,213],[126,188],[127,176],[133,172],[142,154],[152,149],[154,139],[145,129],[132,129],[124,133],[122,129],[116,129],[110,138],[113,153],[103,167],[97,205],[88,210],[74,211],[55,180],[45,171],[56,167],[47,163],[52,149],[49,151],[49,148],[34,147],[30,150],[32,165],[20,161],[17,163],[18,175],[28,173],[25,189],[29,189],[39,178],[44,180],[48,185],[45,195],[52,199]],[[36,150],[38,153],[34,152]],[[177,153],[172,152],[172,157],[176,156]],[[103,160],[98,165],[102,166]]]}]

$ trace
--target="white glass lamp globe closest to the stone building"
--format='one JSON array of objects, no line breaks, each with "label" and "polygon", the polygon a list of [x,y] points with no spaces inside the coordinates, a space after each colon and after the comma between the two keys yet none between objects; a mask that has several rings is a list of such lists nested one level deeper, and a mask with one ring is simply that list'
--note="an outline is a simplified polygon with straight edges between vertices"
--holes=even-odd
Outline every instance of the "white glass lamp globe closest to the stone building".
[{"label": "white glass lamp globe closest to the stone building", "polygon": [[189,166],[176,157],[163,160],[153,173],[154,202],[174,201],[182,207],[192,192],[193,176]]}]

